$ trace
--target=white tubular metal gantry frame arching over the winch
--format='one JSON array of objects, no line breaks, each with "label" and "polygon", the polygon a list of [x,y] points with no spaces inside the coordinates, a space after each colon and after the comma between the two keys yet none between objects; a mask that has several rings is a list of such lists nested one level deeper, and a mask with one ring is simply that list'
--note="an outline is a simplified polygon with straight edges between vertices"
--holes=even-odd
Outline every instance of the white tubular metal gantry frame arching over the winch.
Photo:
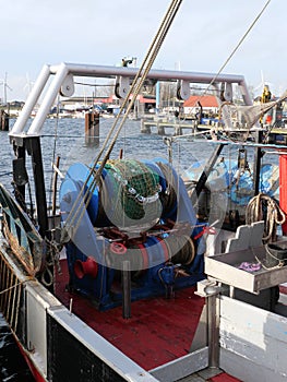
[{"label": "white tubular metal gantry frame arching over the winch", "polygon": [[[92,65],[92,64],[74,64],[62,62],[59,65],[45,65],[39,74],[39,77],[27,98],[25,107],[21,112],[16,123],[10,132],[10,136],[21,135],[24,133],[24,129],[31,116],[33,108],[35,107],[39,96],[43,94],[45,85],[50,75],[55,75],[52,82],[47,89],[46,96],[41,102],[41,106],[27,131],[28,135],[38,135],[41,132],[44,121],[49,114],[49,110],[63,85],[67,75],[77,76],[93,76],[93,77],[112,77],[117,76],[133,79],[137,73],[136,68],[122,68],[122,67],[104,67],[104,65]],[[208,84],[215,79],[213,73],[198,73],[198,72],[181,72],[181,71],[169,71],[169,70],[151,70],[147,74],[147,79],[155,81],[184,81],[184,83],[205,83]],[[216,75],[216,83],[226,82],[229,84],[237,83],[242,88],[243,97],[247,105],[251,104],[248,88],[246,86],[244,77],[242,75],[232,74],[219,74]]]}]

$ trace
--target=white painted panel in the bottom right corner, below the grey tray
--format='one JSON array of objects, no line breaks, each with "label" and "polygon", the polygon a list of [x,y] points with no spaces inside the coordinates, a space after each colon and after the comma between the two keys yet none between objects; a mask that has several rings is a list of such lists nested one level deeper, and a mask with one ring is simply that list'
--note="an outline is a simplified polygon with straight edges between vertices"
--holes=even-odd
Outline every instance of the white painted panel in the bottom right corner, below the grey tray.
[{"label": "white painted panel in the bottom right corner, below the grey tray", "polygon": [[244,382],[287,381],[287,319],[220,297],[219,367]]}]

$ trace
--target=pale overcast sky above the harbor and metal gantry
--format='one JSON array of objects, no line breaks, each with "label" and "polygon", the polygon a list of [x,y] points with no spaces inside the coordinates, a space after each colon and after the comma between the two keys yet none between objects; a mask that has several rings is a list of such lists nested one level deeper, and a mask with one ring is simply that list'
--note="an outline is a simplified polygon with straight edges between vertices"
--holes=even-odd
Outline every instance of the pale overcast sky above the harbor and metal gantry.
[{"label": "pale overcast sky above the harbor and metal gantry", "polygon": [[[45,63],[141,64],[171,0],[1,0],[0,80],[8,100],[25,100]],[[216,73],[267,0],[183,0],[155,61],[157,69]],[[287,0],[271,0],[225,73],[261,93],[287,88]],[[3,85],[0,97],[3,98]]]}]

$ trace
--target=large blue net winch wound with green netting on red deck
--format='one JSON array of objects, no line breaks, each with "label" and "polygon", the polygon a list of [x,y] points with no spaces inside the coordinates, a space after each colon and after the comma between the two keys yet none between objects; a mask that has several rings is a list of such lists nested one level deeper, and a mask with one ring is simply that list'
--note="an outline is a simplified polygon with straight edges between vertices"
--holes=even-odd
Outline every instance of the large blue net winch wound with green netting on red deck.
[{"label": "large blue net winch wound with green netting on red deck", "polygon": [[132,300],[202,279],[204,226],[170,164],[109,159],[96,183],[99,165],[74,164],[60,188],[69,287],[107,309],[122,300],[124,262]]}]

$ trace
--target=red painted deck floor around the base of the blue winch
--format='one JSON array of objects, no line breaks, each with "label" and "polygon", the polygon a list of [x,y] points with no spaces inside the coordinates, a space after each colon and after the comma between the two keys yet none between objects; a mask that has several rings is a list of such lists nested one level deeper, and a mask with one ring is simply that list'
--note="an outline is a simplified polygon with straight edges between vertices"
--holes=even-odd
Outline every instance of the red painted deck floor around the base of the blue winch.
[{"label": "red painted deck floor around the base of the blue winch", "polygon": [[[88,299],[65,291],[67,264],[62,262],[61,267],[62,275],[58,275],[56,282],[59,300],[69,307],[73,298],[74,313],[145,370],[189,353],[205,302],[194,295],[194,287],[176,290],[174,299],[155,297],[134,301],[132,317],[125,320],[121,307],[100,312]],[[238,381],[225,373],[219,377],[210,381]]]}]

